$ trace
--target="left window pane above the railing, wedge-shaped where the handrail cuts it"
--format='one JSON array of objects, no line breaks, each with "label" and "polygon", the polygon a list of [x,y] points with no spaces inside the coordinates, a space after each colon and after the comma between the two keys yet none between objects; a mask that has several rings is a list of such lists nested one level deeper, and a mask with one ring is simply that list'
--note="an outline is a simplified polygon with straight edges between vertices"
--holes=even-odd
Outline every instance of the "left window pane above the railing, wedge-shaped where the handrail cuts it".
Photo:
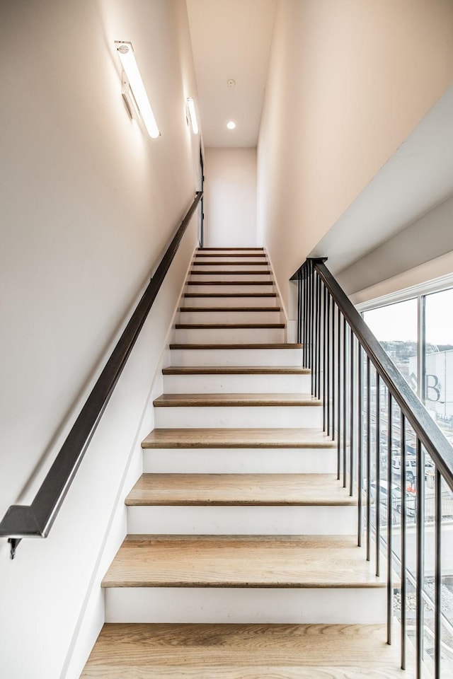
[{"label": "left window pane above the railing, wedge-shaped where the handrail cuts it", "polygon": [[416,392],[418,381],[417,299],[408,299],[365,311],[364,319]]}]

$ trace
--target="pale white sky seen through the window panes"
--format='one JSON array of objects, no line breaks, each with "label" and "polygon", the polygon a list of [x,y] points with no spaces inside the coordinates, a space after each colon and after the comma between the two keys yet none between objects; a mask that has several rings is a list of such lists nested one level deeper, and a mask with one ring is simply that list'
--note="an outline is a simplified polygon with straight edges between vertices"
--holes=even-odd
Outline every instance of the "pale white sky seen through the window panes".
[{"label": "pale white sky seen through the window panes", "polygon": [[[366,311],[365,322],[379,341],[417,341],[417,299]],[[453,289],[426,296],[426,342],[453,344]]]}]

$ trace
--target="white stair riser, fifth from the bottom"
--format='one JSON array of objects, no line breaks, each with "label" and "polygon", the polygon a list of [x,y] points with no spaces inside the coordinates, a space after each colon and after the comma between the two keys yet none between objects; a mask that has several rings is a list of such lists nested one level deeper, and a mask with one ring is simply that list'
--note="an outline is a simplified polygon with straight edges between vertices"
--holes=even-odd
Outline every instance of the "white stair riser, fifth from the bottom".
[{"label": "white stair riser, fifth from the bottom", "polygon": [[309,375],[164,375],[166,394],[309,393]]}]

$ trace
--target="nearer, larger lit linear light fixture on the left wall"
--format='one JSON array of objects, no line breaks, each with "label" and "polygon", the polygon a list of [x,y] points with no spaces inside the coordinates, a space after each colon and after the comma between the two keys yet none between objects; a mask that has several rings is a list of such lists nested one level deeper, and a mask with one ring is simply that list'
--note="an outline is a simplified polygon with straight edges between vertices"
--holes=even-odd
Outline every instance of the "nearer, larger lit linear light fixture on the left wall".
[{"label": "nearer, larger lit linear light fixture on the left wall", "polygon": [[115,45],[117,45],[117,52],[120,55],[122,68],[125,71],[127,83],[129,83],[130,86],[130,91],[127,92],[123,79],[122,92],[127,100],[127,105],[131,109],[130,101],[132,101],[132,106],[139,112],[139,116],[142,118],[144,126],[147,128],[149,137],[156,139],[161,133],[159,132],[159,127],[157,127],[156,118],[151,109],[151,104],[149,103],[147,91],[144,88],[139,67],[135,61],[132,42],[115,40]]}]

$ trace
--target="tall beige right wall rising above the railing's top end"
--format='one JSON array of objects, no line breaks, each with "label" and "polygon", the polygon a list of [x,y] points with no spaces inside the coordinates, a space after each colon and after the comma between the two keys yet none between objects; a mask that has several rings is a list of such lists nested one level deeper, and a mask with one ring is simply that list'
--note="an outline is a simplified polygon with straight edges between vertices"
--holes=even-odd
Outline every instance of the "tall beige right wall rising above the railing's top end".
[{"label": "tall beige right wall rising above the railing's top end", "polygon": [[453,79],[450,0],[279,0],[258,239],[287,280]]}]

